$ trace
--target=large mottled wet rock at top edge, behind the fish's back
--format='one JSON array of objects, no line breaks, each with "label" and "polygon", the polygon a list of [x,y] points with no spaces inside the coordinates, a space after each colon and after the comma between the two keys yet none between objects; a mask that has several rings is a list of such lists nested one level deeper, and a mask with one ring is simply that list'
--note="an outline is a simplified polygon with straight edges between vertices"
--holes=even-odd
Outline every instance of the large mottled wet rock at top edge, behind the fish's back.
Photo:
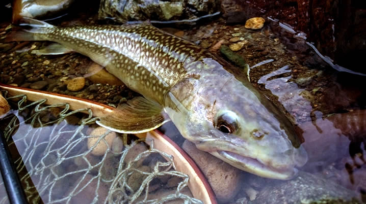
[{"label": "large mottled wet rock at top edge, behind the fish's back", "polygon": [[[185,9],[189,8],[189,9]],[[134,20],[184,20],[196,19],[203,15],[213,14],[220,9],[217,0],[195,1],[122,1],[103,0],[100,3],[98,18],[113,19],[119,23]],[[190,22],[194,24],[195,22]]]}]

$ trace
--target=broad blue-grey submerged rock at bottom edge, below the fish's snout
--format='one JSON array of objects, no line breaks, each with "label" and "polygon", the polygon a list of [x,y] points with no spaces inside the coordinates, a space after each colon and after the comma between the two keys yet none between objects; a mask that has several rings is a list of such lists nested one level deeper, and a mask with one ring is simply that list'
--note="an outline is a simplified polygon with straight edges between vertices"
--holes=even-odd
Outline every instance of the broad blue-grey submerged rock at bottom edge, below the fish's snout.
[{"label": "broad blue-grey submerged rock at bottom edge, below the fish's snout", "polygon": [[259,192],[253,203],[310,203],[332,200],[349,201],[356,197],[350,191],[336,183],[321,177],[300,172],[299,175],[289,181],[279,182],[277,185],[267,185]]}]

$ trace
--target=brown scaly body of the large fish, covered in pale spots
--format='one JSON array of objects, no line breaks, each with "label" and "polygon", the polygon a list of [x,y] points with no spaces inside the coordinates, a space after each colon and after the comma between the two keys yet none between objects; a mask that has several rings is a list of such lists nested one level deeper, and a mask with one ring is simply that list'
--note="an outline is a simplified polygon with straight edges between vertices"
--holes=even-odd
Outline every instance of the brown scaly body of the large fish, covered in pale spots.
[{"label": "brown scaly body of the large fish, covered in pale spots", "polygon": [[150,25],[56,27],[38,35],[89,56],[128,87],[143,88],[146,91],[138,92],[160,104],[177,81],[199,72],[193,67],[203,69],[202,57],[201,62],[194,57],[202,55],[200,47]]}]

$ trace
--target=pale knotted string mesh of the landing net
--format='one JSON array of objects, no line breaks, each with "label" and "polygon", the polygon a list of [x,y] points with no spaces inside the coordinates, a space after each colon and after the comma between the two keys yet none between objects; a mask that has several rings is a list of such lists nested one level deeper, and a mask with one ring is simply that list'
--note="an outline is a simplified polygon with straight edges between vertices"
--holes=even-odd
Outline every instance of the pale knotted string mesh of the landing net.
[{"label": "pale knotted string mesh of the landing net", "polygon": [[[190,194],[189,177],[175,171],[173,157],[153,140],[117,134],[111,142],[109,130],[91,133],[100,127],[90,109],[4,95],[17,103],[2,124],[30,203],[202,203]],[[104,150],[95,155],[98,148]]]}]

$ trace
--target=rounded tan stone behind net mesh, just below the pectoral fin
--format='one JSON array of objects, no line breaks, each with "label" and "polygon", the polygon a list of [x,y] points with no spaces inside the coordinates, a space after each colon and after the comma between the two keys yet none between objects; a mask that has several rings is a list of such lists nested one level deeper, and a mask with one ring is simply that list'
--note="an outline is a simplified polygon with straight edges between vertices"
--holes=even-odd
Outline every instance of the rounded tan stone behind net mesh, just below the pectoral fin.
[{"label": "rounded tan stone behind net mesh, just below the pectoral fin", "polygon": [[[108,130],[104,127],[97,127],[92,132],[90,132],[90,136],[94,136],[94,137],[88,138],[88,149],[93,148],[92,152],[91,152],[92,154],[94,154],[96,156],[103,155],[104,153],[106,153],[107,149],[112,146],[112,142],[116,138],[116,132],[108,133],[104,137],[105,142],[104,142],[104,140],[100,140],[98,142],[98,140],[100,138],[99,136],[106,133],[106,131],[108,131]],[[106,144],[106,142],[107,142],[107,144]],[[96,146],[93,147],[95,144],[96,144]]]}]

